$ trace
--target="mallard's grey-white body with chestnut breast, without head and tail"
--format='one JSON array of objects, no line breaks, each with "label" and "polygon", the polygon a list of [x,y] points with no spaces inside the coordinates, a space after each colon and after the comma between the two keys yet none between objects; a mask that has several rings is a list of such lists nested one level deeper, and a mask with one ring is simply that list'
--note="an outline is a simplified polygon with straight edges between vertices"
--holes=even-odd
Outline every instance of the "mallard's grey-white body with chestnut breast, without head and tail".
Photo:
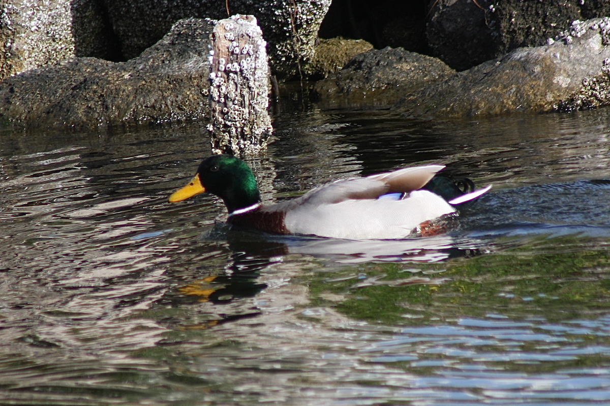
[{"label": "mallard's grey-white body with chestnut breast, without head and tail", "polygon": [[422,223],[455,212],[438,194],[420,189],[442,168],[412,167],[340,180],[290,201],[259,205],[230,219],[235,225],[268,233],[401,239]]}]

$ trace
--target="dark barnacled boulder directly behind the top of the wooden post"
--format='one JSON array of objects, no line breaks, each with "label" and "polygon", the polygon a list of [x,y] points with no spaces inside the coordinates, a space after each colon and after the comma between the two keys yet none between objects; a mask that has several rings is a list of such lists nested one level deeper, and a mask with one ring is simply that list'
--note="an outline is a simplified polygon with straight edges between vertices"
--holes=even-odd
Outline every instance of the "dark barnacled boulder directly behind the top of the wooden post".
[{"label": "dark barnacled boulder directly behind the top of the wooden post", "polygon": [[282,76],[295,75],[297,62],[312,55],[318,29],[331,0],[104,0],[124,58],[134,58],[154,44],[181,18],[223,19],[253,15],[269,44],[271,66]]}]

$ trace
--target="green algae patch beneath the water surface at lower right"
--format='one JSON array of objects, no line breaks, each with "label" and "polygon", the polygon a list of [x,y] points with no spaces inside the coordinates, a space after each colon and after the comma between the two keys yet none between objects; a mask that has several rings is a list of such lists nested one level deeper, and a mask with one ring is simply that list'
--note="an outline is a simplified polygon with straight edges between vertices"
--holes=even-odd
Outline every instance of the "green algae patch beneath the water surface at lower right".
[{"label": "green algae patch beneath the water surface at lower right", "polygon": [[561,321],[608,311],[610,251],[594,239],[538,237],[517,248],[440,264],[365,264],[332,275],[320,272],[309,285],[316,303],[387,324],[489,313]]}]

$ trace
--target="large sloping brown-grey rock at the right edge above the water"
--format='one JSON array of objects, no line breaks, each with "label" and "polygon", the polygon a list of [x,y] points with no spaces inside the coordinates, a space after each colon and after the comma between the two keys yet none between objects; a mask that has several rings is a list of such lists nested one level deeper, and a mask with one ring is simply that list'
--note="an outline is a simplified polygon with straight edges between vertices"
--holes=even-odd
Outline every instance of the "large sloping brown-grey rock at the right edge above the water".
[{"label": "large sloping brown-grey rock at the right edge above the water", "polygon": [[[608,104],[610,95],[600,85],[608,82],[610,18],[576,21],[549,42],[519,48],[445,82],[405,93],[396,108],[412,117],[448,117]],[[595,101],[585,101],[596,89]]]}]

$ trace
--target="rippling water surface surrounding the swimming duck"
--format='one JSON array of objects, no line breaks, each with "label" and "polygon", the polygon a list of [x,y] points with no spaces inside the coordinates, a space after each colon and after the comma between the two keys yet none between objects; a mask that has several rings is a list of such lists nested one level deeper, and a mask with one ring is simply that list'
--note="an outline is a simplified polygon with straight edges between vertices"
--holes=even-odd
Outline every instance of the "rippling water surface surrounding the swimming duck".
[{"label": "rippling water surface surrounding the swimming duck", "polygon": [[0,133],[0,404],[610,404],[609,110],[276,119],[268,201],[415,163],[494,185],[385,242],[170,205],[204,124]]}]

